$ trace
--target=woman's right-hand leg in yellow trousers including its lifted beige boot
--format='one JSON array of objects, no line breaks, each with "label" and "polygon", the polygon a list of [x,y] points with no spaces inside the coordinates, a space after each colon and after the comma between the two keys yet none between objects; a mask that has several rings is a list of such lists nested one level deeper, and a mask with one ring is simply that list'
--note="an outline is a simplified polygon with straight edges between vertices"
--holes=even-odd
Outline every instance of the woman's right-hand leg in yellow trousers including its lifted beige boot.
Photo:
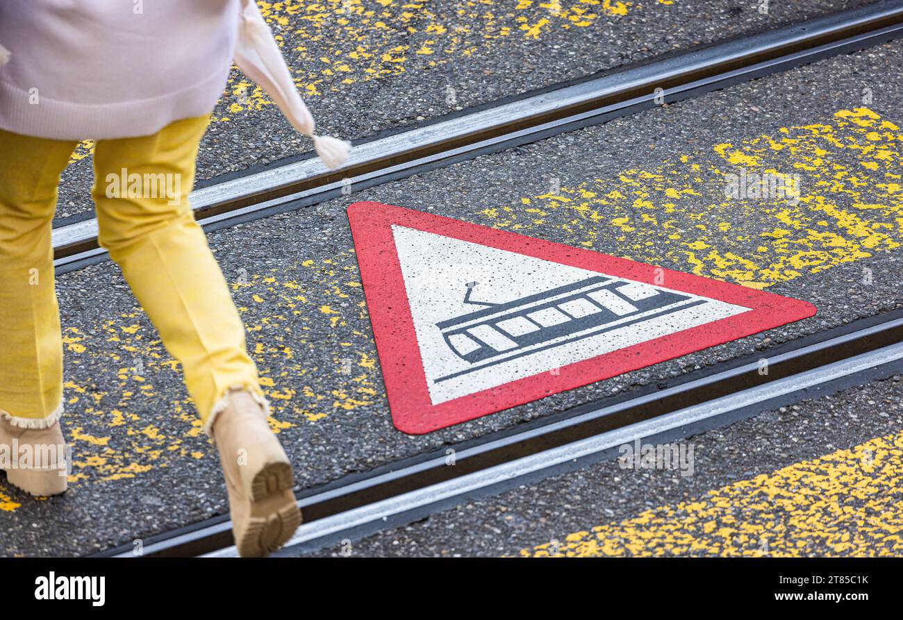
[{"label": "woman's right-hand leg in yellow trousers including its lifted beige boot", "polygon": [[219,449],[241,555],[265,555],[301,523],[285,452],[266,421],[245,329],[188,196],[208,118],[95,147],[99,242],[182,363]]}]

